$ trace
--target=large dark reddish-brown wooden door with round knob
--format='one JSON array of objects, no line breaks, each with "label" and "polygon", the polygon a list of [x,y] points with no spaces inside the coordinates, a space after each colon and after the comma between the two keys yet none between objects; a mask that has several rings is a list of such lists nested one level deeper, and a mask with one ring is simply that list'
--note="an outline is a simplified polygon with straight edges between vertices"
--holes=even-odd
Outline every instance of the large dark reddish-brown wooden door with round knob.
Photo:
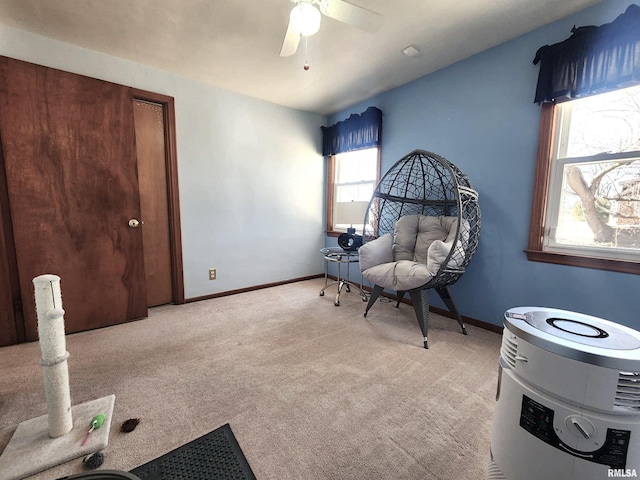
[{"label": "large dark reddish-brown wooden door with round knob", "polygon": [[44,273],[68,333],[146,316],[131,90],[0,57],[0,132],[26,340]]}]

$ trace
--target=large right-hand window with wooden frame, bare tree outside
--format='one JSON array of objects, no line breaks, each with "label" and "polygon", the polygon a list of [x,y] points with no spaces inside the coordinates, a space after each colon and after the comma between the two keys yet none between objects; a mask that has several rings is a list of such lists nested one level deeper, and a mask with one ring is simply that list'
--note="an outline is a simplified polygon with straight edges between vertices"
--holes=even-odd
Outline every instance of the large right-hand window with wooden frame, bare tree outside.
[{"label": "large right-hand window with wooden frame, bare tree outside", "polygon": [[527,253],[640,273],[640,86],[543,104]]}]

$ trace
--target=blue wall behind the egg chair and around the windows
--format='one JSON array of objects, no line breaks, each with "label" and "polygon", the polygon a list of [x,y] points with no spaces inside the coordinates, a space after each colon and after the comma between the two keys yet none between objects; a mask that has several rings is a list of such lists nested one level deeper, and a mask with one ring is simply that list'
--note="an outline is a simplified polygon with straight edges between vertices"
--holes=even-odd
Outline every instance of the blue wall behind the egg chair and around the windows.
[{"label": "blue wall behind the egg chair and around the windows", "polygon": [[[540,121],[533,57],[542,45],[567,38],[574,25],[608,23],[629,4],[605,1],[328,119],[331,125],[377,106],[384,113],[383,173],[422,148],[469,176],[480,194],[482,231],[476,256],[451,287],[463,315],[501,325],[509,308],[545,306],[640,330],[640,276],[530,262],[523,252]],[[335,239],[327,237],[326,244],[335,245]],[[444,308],[437,295],[432,303]]]}]

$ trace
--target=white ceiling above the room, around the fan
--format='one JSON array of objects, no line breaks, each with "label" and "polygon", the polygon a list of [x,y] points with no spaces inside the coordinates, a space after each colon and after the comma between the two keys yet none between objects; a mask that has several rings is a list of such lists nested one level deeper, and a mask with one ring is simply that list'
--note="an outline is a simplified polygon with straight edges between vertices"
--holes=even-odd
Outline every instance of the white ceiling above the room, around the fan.
[{"label": "white ceiling above the room, around the fan", "polygon": [[[382,28],[323,17],[306,58],[304,39],[279,56],[291,0],[0,0],[0,22],[328,115],[599,1],[351,0]],[[402,55],[412,44],[420,57]]]}]

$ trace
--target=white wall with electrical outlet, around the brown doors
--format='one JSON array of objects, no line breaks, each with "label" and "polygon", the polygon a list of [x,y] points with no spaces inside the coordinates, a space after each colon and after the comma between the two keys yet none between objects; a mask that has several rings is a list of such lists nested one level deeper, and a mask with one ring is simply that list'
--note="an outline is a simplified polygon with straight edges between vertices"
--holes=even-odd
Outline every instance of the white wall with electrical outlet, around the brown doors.
[{"label": "white wall with electrical outlet, around the brown doors", "polygon": [[324,117],[2,25],[0,55],[175,98],[186,298],[322,273]]}]

